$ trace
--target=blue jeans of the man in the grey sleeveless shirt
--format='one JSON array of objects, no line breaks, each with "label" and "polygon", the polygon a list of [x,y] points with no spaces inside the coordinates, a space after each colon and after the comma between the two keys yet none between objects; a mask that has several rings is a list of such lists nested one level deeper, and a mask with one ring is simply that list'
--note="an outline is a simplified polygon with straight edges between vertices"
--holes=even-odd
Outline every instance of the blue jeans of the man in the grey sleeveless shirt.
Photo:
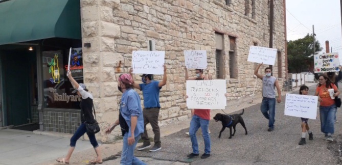
[{"label": "blue jeans of the man in the grey sleeveless shirt", "polygon": [[263,97],[260,110],[262,114],[268,119],[268,127],[274,128],[276,115],[276,98]]}]

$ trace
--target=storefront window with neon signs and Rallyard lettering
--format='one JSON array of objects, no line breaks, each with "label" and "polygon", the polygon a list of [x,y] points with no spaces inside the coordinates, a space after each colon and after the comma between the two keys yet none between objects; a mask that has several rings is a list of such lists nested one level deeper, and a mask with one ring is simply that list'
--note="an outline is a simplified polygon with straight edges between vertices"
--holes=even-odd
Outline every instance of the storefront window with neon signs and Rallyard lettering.
[{"label": "storefront window with neon signs and Rallyard lettering", "polygon": [[[43,51],[44,105],[47,108],[79,109],[81,98],[73,94],[73,86],[66,76],[69,50]],[[78,83],[83,83],[82,49],[71,51],[70,70]]]}]

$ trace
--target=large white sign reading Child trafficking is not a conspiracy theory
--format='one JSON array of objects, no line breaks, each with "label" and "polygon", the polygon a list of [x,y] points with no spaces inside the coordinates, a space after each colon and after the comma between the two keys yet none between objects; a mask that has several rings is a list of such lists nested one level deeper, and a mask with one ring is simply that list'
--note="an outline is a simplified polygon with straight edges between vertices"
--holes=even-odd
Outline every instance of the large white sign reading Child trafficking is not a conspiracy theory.
[{"label": "large white sign reading Child trafficking is not a conspiracy theory", "polygon": [[225,79],[187,80],[187,106],[196,109],[224,109]]}]

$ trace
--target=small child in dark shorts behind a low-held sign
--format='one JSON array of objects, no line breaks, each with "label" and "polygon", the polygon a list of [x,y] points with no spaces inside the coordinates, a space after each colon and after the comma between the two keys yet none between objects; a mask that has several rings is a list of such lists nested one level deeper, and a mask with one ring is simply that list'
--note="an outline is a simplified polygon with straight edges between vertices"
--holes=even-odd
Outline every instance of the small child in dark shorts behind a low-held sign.
[{"label": "small child in dark shorts behind a low-held sign", "polygon": [[[307,86],[302,86],[300,89],[299,89],[299,94],[300,95],[308,95],[309,93],[309,87]],[[302,120],[302,138],[301,138],[301,141],[298,143],[299,145],[304,145],[306,144],[306,141],[305,141],[305,137],[306,137],[306,131],[309,133],[309,140],[312,141],[313,140],[313,134],[312,132],[310,131],[310,127],[309,127],[309,124],[308,124],[308,118],[301,118]]]}]

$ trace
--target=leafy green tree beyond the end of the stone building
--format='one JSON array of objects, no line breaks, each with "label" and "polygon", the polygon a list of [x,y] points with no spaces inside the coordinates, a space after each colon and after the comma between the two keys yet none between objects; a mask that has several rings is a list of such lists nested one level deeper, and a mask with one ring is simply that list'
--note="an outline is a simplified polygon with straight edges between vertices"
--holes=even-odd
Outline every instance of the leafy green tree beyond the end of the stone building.
[{"label": "leafy green tree beyond the end of the stone building", "polygon": [[[315,54],[321,51],[320,42],[315,41]],[[300,73],[313,68],[313,36],[287,42],[287,60],[289,73]]]}]

